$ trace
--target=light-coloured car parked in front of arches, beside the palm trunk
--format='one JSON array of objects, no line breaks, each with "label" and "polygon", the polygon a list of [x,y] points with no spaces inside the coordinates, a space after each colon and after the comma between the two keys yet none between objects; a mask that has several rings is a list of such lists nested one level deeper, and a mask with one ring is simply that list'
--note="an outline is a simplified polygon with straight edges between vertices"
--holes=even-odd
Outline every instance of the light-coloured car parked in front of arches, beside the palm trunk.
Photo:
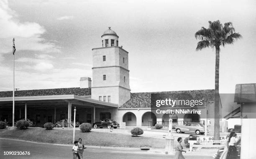
[{"label": "light-coloured car parked in front of arches, beside the palm trunk", "polygon": [[[193,132],[198,134],[205,134],[205,125],[201,123],[187,123],[186,125],[175,126],[175,131],[177,133]],[[207,132],[209,132],[207,130]]]}]

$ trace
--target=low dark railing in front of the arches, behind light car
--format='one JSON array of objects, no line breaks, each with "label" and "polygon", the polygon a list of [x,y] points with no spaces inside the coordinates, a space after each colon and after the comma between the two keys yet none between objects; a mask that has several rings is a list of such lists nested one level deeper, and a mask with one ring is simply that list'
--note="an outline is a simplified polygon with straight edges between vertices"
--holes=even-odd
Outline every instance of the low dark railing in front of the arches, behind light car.
[{"label": "low dark railing in front of the arches, behind light car", "polygon": [[[174,129],[175,125],[185,125],[187,123],[201,123],[201,124],[205,124],[204,120],[184,120],[184,121],[175,121],[172,122],[172,128]],[[148,121],[148,128],[154,128],[156,124],[162,124],[164,128],[168,128],[169,127],[169,121]]]}]

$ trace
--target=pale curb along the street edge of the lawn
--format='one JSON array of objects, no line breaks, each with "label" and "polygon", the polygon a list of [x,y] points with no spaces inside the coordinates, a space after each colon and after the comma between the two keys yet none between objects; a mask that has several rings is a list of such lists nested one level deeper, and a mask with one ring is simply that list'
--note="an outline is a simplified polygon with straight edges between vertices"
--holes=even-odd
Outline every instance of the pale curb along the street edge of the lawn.
[{"label": "pale curb along the street edge of the lawn", "polygon": [[[46,142],[36,142],[36,141],[28,141],[28,140],[20,140],[20,139],[10,139],[10,138],[2,138],[3,140],[12,140],[12,141],[23,141],[28,143],[34,143],[34,144],[45,144],[45,145],[57,145],[57,146],[72,146],[73,144],[51,144]],[[84,145],[88,148],[98,148],[98,149],[118,149],[118,150],[141,150],[140,148],[133,148],[133,147],[111,147],[111,146],[89,146]]]}]

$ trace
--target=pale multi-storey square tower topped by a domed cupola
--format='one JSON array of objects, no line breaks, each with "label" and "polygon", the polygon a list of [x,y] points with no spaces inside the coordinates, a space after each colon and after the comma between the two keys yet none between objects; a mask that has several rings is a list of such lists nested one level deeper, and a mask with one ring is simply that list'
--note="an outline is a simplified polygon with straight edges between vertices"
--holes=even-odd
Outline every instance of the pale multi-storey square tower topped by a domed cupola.
[{"label": "pale multi-storey square tower topped by a domed cupola", "polygon": [[92,99],[123,105],[131,98],[128,52],[118,46],[118,35],[109,27],[102,47],[92,49]]}]

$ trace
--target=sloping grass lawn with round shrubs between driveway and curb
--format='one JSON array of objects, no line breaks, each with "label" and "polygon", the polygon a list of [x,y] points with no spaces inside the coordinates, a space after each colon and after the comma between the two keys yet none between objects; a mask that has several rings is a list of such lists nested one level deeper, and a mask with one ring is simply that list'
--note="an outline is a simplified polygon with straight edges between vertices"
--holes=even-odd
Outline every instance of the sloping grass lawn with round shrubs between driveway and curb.
[{"label": "sloping grass lawn with round shrubs between driveway and curb", "polygon": [[[28,141],[46,142],[54,144],[72,144],[73,130],[43,128],[28,128],[26,130],[0,129],[0,137],[13,138]],[[114,147],[135,147],[149,146],[151,148],[164,148],[165,140],[151,137],[132,137],[128,134],[112,134],[105,132],[82,133],[76,130],[76,140],[83,139],[84,145],[90,146],[114,146]]]}]

